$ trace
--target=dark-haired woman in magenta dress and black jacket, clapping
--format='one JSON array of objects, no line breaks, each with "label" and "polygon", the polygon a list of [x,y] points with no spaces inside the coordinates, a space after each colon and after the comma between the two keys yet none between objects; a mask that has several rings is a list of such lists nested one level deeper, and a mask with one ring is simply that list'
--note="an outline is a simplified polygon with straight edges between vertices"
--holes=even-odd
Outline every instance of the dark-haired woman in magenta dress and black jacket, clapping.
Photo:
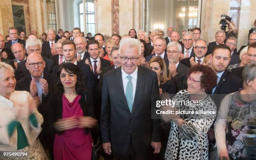
[{"label": "dark-haired woman in magenta dress and black jacket, clapping", "polygon": [[[54,137],[54,160],[91,160],[95,127],[91,93],[86,91],[82,74],[73,63],[59,67],[56,92],[49,97],[48,124]],[[53,135],[53,134],[51,134]]]}]

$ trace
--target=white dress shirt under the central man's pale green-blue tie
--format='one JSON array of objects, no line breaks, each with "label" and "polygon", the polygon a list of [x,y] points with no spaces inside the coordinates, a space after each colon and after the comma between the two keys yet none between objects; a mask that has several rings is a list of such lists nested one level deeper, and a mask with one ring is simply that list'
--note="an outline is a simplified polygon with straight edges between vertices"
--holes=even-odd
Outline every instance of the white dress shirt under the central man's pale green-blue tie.
[{"label": "white dress shirt under the central man's pale green-blue tie", "polygon": [[[122,71],[122,79],[123,79],[123,90],[124,90],[124,94],[125,94],[126,86],[128,84],[128,81],[129,81],[127,76],[129,74],[125,73],[125,71],[123,70],[122,67],[121,67],[121,71]],[[131,81],[132,81],[132,84],[133,84],[133,101],[134,101],[134,96],[135,96],[135,91],[136,91],[136,84],[137,84],[137,76],[138,76],[138,67],[136,67],[135,71],[132,74],[130,74],[130,76],[132,77]]]}]

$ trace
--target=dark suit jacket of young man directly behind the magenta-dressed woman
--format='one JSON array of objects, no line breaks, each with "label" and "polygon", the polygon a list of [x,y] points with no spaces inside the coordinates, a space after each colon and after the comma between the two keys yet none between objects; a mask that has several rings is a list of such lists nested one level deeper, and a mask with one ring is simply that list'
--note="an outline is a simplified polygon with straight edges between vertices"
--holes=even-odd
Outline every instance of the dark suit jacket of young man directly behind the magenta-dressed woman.
[{"label": "dark suit jacket of young man directly behind the magenta-dressed woman", "polygon": [[[55,66],[53,68],[52,74],[57,75],[57,73],[59,71],[59,66],[60,65]],[[78,61],[77,61],[77,66],[81,69],[82,76],[83,76],[83,79],[84,79],[84,84],[86,84],[87,89],[92,90],[93,86],[94,86],[94,83],[93,83],[93,74],[92,74],[90,66],[88,64],[81,63],[81,62],[78,62]]]}]

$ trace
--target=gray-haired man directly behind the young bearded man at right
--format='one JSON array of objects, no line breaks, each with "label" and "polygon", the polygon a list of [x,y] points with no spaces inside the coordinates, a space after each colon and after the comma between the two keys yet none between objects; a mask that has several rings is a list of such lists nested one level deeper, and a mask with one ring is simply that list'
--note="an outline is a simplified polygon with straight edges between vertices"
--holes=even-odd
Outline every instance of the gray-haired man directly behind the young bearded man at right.
[{"label": "gray-haired man directly behind the young bearded man at right", "polygon": [[[215,40],[216,40],[216,41],[210,42],[210,43],[208,44],[207,55],[208,55],[208,54],[212,54],[213,49],[214,49],[217,45],[219,45],[219,44],[224,44],[225,39],[226,39],[225,31],[224,31],[224,30],[218,30],[218,31],[215,33]],[[207,56],[207,55],[205,55],[205,56]]]}]

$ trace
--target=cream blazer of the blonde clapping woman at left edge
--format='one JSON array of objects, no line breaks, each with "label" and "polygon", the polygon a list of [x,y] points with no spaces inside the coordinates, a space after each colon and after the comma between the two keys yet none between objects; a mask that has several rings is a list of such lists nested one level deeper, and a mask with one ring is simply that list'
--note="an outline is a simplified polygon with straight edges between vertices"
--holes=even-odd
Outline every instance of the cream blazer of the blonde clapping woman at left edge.
[{"label": "cream blazer of the blonde clapping woman at left edge", "polygon": [[[31,110],[31,111],[30,111]],[[34,113],[38,122],[37,127],[29,120],[29,115]],[[32,145],[39,133],[41,132],[41,124],[43,117],[38,112],[36,105],[27,91],[14,91],[10,99],[0,96],[0,150],[1,151],[15,151],[17,150],[17,128],[15,128],[13,135],[8,136],[8,124],[16,120],[20,122],[26,134],[28,145]]]}]

